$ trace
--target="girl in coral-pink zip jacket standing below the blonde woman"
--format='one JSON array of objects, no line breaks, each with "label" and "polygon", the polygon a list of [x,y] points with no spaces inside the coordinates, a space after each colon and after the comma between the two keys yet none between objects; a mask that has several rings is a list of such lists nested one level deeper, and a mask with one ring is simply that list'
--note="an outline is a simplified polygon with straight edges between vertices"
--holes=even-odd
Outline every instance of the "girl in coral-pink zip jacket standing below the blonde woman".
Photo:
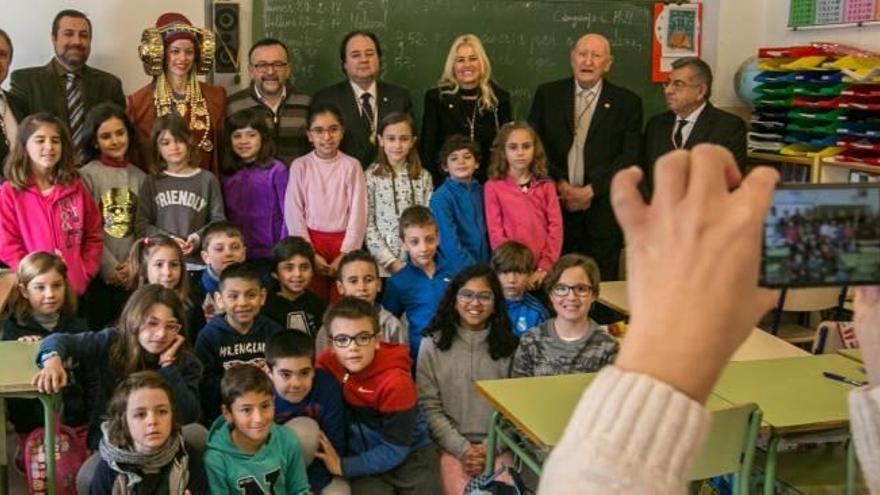
[{"label": "girl in coral-pink zip jacket standing below the blonde woman", "polygon": [[540,286],[562,251],[562,213],[544,147],[525,122],[504,124],[498,132],[483,194],[492,249],[505,241],[528,246],[538,268],[529,286]]}]

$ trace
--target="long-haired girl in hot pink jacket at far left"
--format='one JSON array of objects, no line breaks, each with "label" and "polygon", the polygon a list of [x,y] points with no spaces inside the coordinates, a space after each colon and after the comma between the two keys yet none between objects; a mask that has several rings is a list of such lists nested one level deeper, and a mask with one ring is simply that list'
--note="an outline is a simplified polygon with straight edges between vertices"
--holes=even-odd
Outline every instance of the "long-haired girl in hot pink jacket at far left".
[{"label": "long-haired girl in hot pink jacket at far left", "polygon": [[24,119],[0,188],[0,261],[13,270],[34,251],[61,256],[82,295],[98,273],[101,214],[76,171],[67,126],[49,113]]}]

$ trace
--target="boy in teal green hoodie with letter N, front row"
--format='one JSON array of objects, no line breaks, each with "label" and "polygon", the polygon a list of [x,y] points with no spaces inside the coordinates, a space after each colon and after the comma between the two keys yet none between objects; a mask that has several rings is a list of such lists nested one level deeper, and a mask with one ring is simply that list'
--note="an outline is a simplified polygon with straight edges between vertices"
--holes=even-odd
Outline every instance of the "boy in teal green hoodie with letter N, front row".
[{"label": "boy in teal green hoodie with letter N, front row", "polygon": [[273,421],[266,373],[249,365],[232,368],[223,375],[220,396],[223,416],[211,426],[205,453],[211,493],[309,493],[299,441]]}]

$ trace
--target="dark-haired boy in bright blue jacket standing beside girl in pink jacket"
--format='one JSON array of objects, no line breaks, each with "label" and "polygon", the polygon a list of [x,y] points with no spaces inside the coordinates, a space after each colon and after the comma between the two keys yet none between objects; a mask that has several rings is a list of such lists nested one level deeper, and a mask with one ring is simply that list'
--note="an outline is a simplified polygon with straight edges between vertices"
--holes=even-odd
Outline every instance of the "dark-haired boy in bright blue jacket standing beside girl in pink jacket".
[{"label": "dark-haired boy in bright blue jacket standing beside girl in pink jacket", "polygon": [[460,134],[449,136],[440,149],[440,163],[449,177],[431,195],[431,212],[440,230],[440,257],[453,275],[488,263],[492,255],[483,185],[474,178],[478,154],[477,145]]}]

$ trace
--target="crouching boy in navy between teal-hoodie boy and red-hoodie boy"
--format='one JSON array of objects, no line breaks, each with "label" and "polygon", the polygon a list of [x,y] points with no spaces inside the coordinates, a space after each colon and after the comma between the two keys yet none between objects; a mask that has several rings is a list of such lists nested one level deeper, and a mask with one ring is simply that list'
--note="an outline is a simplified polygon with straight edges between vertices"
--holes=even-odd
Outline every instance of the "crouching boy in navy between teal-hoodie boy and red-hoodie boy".
[{"label": "crouching boy in navy between teal-hoodie boy and red-hoodie boy", "polygon": [[[275,422],[299,437],[313,493],[348,493],[348,483],[333,479],[323,462],[312,462],[319,429],[336,450],[345,448],[342,389],[330,373],[315,369],[315,347],[304,332],[280,332],[266,343],[266,364],[275,387]],[[311,437],[314,440],[310,442]],[[325,489],[333,483],[333,487]]]}]

